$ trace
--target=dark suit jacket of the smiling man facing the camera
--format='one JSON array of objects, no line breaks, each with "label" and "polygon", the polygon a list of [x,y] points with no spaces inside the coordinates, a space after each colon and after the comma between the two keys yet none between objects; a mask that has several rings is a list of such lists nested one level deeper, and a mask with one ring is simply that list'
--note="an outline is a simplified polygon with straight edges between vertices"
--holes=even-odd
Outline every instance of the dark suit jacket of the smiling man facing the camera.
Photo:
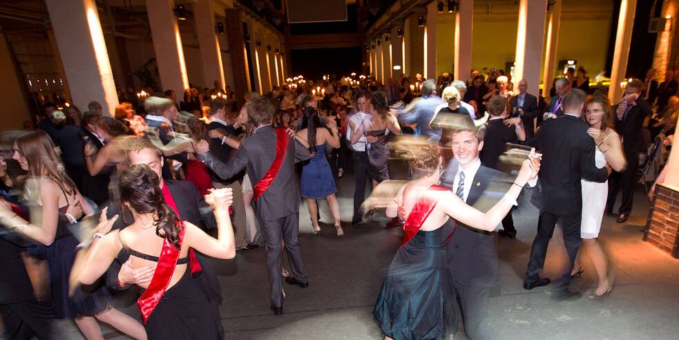
[{"label": "dark suit jacket of the smiling man facing the camera", "polygon": [[[452,189],[455,187],[453,182],[457,165],[448,169],[441,176],[441,187]],[[467,204],[479,211],[488,211],[504,196],[512,182],[513,179],[505,173],[481,165],[474,176]],[[442,228],[444,237],[452,233],[446,245],[446,264],[452,278],[468,287],[487,288],[497,285],[499,265],[496,234],[468,227],[452,218]]]}]

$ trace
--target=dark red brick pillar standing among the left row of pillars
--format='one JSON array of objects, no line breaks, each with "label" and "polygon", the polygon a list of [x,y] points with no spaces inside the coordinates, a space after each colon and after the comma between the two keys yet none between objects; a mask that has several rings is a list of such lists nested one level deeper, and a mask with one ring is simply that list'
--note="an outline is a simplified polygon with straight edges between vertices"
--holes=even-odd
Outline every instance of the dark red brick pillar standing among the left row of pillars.
[{"label": "dark red brick pillar standing among the left row of pillars", "polygon": [[233,92],[236,92],[238,105],[245,104],[247,93],[247,71],[245,67],[245,51],[242,46],[243,24],[241,20],[242,10],[226,10],[227,39],[231,50],[231,69],[233,70]]}]

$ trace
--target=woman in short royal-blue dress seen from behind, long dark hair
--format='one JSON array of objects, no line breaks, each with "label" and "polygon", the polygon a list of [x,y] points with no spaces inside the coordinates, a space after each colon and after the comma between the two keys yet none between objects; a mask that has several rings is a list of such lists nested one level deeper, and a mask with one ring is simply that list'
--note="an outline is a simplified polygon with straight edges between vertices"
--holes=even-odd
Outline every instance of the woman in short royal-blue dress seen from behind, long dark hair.
[{"label": "woman in short royal-blue dress seen from behind, long dark hair", "polygon": [[330,207],[337,236],[344,236],[344,231],[340,225],[339,203],[335,197],[337,187],[335,187],[335,179],[325,156],[326,143],[334,149],[340,146],[337,124],[334,120],[321,122],[318,111],[315,108],[307,107],[304,109],[302,125],[300,130],[297,131],[297,135],[308,142],[309,151],[312,153],[312,158],[302,167],[301,189],[302,197],[307,199],[307,208],[314,225],[314,235],[321,234],[321,227],[318,225],[316,200],[325,198]]}]

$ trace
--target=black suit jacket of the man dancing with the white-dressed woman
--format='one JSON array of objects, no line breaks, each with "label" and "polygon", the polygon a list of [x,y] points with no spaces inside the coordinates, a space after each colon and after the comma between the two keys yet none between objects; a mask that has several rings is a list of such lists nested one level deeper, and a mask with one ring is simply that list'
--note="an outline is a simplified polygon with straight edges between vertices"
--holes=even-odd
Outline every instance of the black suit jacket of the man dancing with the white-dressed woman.
[{"label": "black suit jacket of the man dancing with the white-dressed woman", "polygon": [[580,180],[604,182],[606,169],[594,162],[594,140],[588,126],[573,115],[546,120],[535,135],[535,148],[542,153],[539,181],[542,211],[556,216],[582,214]]}]

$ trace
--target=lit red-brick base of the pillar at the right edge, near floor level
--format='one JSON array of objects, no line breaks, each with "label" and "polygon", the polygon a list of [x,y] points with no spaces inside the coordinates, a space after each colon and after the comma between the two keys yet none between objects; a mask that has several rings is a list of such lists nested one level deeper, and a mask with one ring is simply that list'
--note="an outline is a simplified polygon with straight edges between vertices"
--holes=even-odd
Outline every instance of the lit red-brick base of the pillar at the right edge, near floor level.
[{"label": "lit red-brick base of the pillar at the right edge, near floor level", "polygon": [[656,187],[644,240],[679,258],[679,191]]}]

